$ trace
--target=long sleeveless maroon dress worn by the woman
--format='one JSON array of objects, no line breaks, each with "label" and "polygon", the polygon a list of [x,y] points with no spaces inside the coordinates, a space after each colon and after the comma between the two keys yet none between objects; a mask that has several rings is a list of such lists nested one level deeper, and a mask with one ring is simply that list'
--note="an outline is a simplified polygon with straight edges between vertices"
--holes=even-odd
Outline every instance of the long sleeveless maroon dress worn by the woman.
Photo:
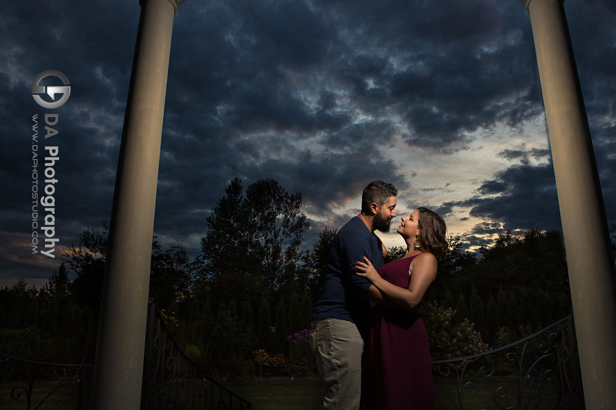
[{"label": "long sleeveless maroon dress worn by the woman", "polygon": [[[415,256],[387,263],[379,275],[408,288],[408,267]],[[368,360],[367,410],[434,409],[428,336],[417,313],[375,305]]]}]

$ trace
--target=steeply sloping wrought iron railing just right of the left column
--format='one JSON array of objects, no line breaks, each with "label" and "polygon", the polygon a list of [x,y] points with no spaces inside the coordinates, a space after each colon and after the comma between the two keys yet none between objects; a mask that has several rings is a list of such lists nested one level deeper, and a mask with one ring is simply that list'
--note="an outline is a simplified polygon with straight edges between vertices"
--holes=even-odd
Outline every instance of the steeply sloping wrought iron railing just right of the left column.
[{"label": "steeply sloping wrought iron railing just right of the left column", "polygon": [[251,409],[182,352],[150,303],[141,409]]}]

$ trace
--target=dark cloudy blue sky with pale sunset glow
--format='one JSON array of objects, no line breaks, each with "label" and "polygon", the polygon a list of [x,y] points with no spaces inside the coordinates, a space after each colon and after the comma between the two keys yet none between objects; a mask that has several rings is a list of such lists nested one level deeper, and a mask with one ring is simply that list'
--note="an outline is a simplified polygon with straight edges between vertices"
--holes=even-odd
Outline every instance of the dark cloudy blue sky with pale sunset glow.
[{"label": "dark cloudy blue sky with pale sunset glow", "polygon": [[[609,222],[616,222],[616,2],[564,4]],[[61,254],[110,219],[139,22],[137,0],[6,2],[0,12],[0,286],[41,286],[32,254],[31,126],[43,70],[55,110]],[[60,85],[60,84],[46,84]],[[42,126],[41,126],[42,127]],[[373,179],[398,214],[442,213],[468,246],[511,228],[559,230],[530,18],[518,0],[188,0],[174,18],[155,235],[200,251],[230,180],[301,192],[310,247],[359,212]],[[382,235],[389,246],[402,242]]]}]

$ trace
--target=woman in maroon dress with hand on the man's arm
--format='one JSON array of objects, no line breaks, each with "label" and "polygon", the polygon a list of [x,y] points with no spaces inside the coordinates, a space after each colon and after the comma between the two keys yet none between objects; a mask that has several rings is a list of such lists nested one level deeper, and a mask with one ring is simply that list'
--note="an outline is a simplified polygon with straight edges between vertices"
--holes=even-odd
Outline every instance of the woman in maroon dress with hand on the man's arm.
[{"label": "woman in maroon dress with hand on the man's arm", "polygon": [[440,215],[420,207],[397,230],[407,243],[402,258],[378,273],[366,257],[355,265],[389,305],[371,312],[366,409],[434,409],[428,336],[417,310],[447,252],[446,231]]}]

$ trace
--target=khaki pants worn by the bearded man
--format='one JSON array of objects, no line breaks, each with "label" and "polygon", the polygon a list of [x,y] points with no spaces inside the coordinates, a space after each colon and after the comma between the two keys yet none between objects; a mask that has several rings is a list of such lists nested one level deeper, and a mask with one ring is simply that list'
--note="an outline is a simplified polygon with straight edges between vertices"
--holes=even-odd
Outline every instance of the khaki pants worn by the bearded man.
[{"label": "khaki pants worn by the bearded man", "polygon": [[357,326],[330,318],[313,321],[310,327],[310,347],[323,380],[323,409],[359,409],[363,339]]}]

